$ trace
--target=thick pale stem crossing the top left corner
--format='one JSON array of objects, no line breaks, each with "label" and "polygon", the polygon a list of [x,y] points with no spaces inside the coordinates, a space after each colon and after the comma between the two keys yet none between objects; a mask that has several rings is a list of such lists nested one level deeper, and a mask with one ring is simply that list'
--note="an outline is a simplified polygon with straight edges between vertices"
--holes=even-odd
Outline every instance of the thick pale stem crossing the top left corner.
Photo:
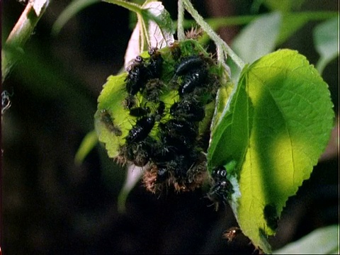
[{"label": "thick pale stem crossing the top left corner", "polygon": [[4,48],[1,49],[1,81],[4,82],[11,68],[18,60],[23,52],[23,45],[28,41],[30,35],[33,34],[35,26],[42,17],[48,5],[48,1],[42,1],[40,12],[35,12],[34,1],[28,1],[26,8],[21,13],[18,22],[8,35]]}]

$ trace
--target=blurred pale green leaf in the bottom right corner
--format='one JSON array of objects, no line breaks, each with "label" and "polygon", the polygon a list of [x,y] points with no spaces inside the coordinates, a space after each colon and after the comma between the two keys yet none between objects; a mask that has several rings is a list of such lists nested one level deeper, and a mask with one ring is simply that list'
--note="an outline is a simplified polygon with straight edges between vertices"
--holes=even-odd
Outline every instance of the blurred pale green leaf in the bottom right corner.
[{"label": "blurred pale green leaf in the bottom right corner", "polygon": [[273,254],[339,254],[339,225],[315,229]]}]

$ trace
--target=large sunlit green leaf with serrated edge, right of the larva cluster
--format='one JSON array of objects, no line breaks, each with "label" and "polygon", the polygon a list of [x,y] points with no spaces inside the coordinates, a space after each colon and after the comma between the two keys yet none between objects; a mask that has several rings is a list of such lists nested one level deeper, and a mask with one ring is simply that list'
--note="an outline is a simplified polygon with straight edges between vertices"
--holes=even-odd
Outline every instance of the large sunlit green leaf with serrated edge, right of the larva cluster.
[{"label": "large sunlit green leaf with serrated edge, right of the larva cluster", "polygon": [[327,84],[304,56],[278,50],[242,71],[212,133],[208,167],[228,172],[231,205],[242,232],[263,251],[290,196],[324,151],[334,112]]}]

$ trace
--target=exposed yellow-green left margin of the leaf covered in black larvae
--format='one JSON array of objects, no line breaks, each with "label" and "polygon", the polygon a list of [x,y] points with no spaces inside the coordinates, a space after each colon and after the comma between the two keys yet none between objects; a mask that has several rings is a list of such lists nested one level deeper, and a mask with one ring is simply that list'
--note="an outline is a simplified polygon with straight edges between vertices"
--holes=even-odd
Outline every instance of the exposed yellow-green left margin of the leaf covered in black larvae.
[{"label": "exposed yellow-green left margin of the leaf covered in black larvae", "polygon": [[109,157],[117,157],[119,148],[132,123],[128,121],[129,111],[122,106],[127,96],[125,78],[128,74],[108,77],[98,97],[98,110],[94,115],[98,140],[106,144]]}]

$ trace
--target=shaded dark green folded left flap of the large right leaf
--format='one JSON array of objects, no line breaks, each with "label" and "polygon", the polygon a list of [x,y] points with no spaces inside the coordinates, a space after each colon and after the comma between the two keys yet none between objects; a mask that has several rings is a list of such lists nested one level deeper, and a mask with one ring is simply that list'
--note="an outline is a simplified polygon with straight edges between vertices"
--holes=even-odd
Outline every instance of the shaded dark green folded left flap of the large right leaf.
[{"label": "shaded dark green folded left flap of the large right leaf", "polygon": [[[237,161],[239,168],[243,162],[246,147],[249,144],[249,130],[251,129],[252,106],[245,86],[234,86],[230,93],[227,89],[220,90],[217,97],[227,101],[221,110],[217,101],[217,113],[212,125],[212,135],[208,148],[208,170],[215,166],[224,166],[232,160]],[[231,95],[230,95],[231,94]],[[224,99],[224,100],[223,100]],[[232,174],[232,173],[229,173]]]}]

